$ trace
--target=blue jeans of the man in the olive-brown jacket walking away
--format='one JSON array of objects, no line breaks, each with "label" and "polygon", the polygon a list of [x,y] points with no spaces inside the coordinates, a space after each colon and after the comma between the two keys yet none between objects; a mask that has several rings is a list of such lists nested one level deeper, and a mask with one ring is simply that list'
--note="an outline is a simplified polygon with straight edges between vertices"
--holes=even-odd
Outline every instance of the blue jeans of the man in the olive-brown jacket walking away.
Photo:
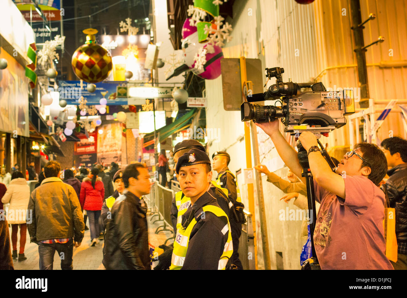
[{"label": "blue jeans of the man in the olive-brown jacket walking away", "polygon": [[53,270],[55,250],[61,259],[62,270],[72,270],[72,255],[74,241],[71,238],[67,243],[46,244],[38,242],[39,270]]}]

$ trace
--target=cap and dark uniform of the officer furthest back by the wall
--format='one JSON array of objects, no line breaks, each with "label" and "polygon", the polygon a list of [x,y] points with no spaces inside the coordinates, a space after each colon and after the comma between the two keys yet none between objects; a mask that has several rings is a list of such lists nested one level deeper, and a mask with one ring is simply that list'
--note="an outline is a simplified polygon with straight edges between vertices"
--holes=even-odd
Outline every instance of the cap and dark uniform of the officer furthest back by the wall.
[{"label": "cap and dark uniform of the officer furthest back by the wall", "polygon": [[[226,156],[230,160],[230,155],[224,151],[218,151],[212,154],[212,159],[215,156]],[[235,207],[239,206],[239,208],[244,208],[244,205],[241,202],[240,192],[236,184],[236,178],[230,172],[228,167],[224,167],[216,177],[217,183],[220,187],[224,187],[228,189],[228,197],[230,201],[233,203]],[[232,263],[237,266],[239,270],[243,270],[243,265],[239,260],[239,238],[242,234],[242,224],[238,222],[238,219],[234,216],[236,215],[236,210],[232,210],[229,216],[230,226],[232,228],[232,241],[233,241],[233,255],[232,255]]]}]

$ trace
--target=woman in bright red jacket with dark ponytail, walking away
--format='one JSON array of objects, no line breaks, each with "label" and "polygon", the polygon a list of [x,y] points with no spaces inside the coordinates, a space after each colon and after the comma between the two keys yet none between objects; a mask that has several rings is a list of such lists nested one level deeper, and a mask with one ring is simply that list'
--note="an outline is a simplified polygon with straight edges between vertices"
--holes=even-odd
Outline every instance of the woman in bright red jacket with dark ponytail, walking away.
[{"label": "woman in bright red jacket with dark ponytail, walking away", "polygon": [[82,210],[86,210],[89,218],[90,227],[90,246],[95,246],[99,243],[99,217],[105,197],[105,188],[103,187],[102,179],[98,177],[99,170],[94,167],[88,177],[83,178],[81,185],[81,195],[79,202]]}]

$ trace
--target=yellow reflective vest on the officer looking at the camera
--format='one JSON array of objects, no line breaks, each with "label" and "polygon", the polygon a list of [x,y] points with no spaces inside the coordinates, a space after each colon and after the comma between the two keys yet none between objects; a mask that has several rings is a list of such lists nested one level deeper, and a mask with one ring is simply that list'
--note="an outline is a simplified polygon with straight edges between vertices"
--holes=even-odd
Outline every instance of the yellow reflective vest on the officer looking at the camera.
[{"label": "yellow reflective vest on the officer looking at the camera", "polygon": [[[225,216],[228,219],[228,224],[225,225],[225,227],[221,231],[223,235],[228,233],[228,240],[225,243],[223,253],[219,258],[218,263],[218,270],[225,270],[226,264],[228,263],[229,258],[232,257],[233,253],[232,234],[230,230],[229,218],[226,215],[226,213],[217,206],[206,205],[202,207],[202,210],[204,212],[211,212],[217,217]],[[188,244],[190,240],[190,234],[195,224],[197,224],[195,218],[190,222],[190,224],[185,229],[182,229],[182,226],[178,228],[177,224],[177,235],[175,236],[174,250],[173,255],[171,257],[170,270],[179,270],[184,265],[185,256],[188,250]]]}]

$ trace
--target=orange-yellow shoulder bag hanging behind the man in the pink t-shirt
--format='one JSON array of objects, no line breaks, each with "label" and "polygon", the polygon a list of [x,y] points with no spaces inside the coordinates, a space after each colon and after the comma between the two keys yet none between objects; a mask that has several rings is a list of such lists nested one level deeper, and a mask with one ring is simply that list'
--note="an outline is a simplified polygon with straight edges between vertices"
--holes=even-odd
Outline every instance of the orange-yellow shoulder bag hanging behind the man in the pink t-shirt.
[{"label": "orange-yellow shoulder bag hanging behind the man in the pink t-shirt", "polygon": [[390,261],[397,262],[396,209],[390,208],[386,185],[384,185],[383,189],[386,198],[383,220],[386,257]]}]

